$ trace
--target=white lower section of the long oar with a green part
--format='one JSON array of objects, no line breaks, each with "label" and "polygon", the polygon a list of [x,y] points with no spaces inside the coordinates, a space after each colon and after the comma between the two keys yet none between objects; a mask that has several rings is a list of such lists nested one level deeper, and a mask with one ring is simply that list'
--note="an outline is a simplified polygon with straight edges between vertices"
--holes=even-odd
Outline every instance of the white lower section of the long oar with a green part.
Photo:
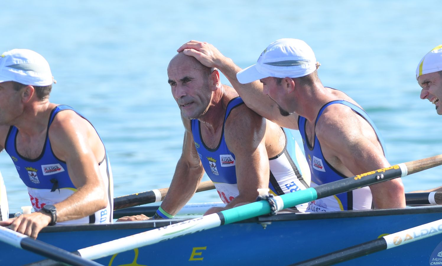
[{"label": "white lower section of the long oar with a green part", "polygon": [[126,236],[106,243],[79,249],[82,258],[97,259],[113,255],[115,253],[128,251],[137,247],[158,243],[176,236],[202,231],[221,225],[220,217],[213,213],[204,217],[183,221],[178,224],[171,224],[166,227],[152,229],[132,236]]}]

